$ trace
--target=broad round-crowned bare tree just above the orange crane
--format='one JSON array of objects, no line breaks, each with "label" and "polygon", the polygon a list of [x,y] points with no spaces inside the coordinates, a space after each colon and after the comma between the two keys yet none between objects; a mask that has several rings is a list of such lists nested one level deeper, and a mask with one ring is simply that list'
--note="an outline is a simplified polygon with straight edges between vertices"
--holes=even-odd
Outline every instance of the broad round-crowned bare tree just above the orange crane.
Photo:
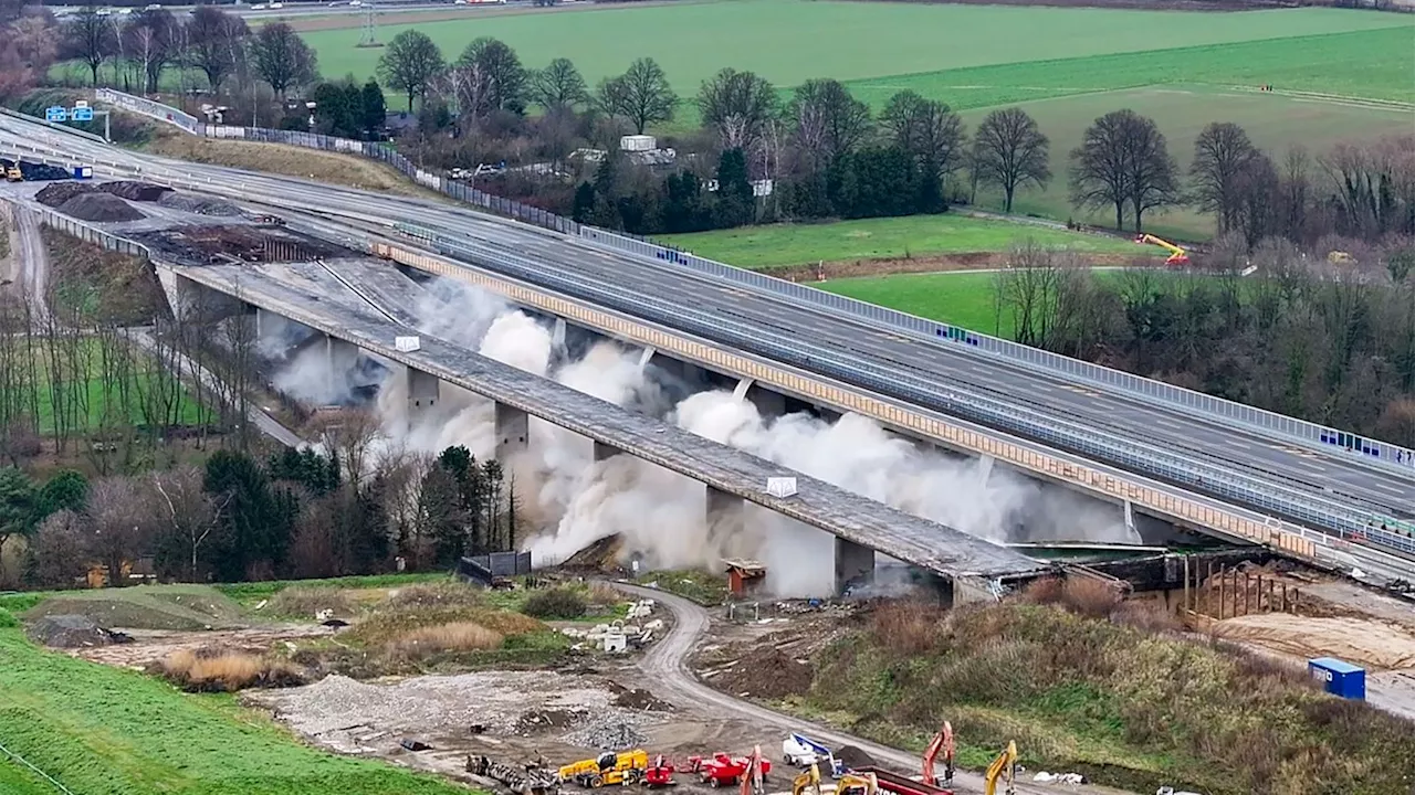
[{"label": "broad round-crowned bare tree just above the orange crane", "polygon": [[1077,207],[1115,207],[1115,228],[1125,226],[1125,207],[1135,215],[1135,231],[1148,209],[1179,201],[1174,158],[1165,136],[1133,110],[1101,116],[1071,151],[1071,202]]}]

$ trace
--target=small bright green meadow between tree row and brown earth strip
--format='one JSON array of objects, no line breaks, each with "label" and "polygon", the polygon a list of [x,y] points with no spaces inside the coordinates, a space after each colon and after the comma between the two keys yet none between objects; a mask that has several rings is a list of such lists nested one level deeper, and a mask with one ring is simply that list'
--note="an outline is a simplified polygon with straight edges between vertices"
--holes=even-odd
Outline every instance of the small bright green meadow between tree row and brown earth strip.
[{"label": "small bright green meadow between tree row and brown earth strip", "polygon": [[957,214],[866,218],[835,224],[777,224],[665,235],[657,239],[698,256],[760,270],[819,260],[1002,252],[1026,239],[1080,252],[1146,253],[1146,249],[1124,239]]}]

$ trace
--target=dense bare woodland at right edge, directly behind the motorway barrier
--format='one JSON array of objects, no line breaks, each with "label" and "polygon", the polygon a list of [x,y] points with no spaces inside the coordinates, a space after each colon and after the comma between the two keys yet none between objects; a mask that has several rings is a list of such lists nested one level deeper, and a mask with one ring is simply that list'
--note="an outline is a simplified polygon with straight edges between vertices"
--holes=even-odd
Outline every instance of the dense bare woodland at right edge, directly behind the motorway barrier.
[{"label": "dense bare woodland at right edge, directly behind the motorway barrier", "polygon": [[1214,273],[1115,276],[1024,245],[996,274],[993,310],[1027,345],[1415,446],[1415,248],[1354,253],[1329,263],[1230,235],[1208,253]]}]

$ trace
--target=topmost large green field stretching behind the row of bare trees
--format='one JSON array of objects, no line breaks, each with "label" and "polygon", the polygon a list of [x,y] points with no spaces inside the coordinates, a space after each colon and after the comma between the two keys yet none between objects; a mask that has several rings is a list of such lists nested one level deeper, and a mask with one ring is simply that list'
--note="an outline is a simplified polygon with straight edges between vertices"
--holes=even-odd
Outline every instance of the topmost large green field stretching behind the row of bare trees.
[{"label": "topmost large green field stretching behind the row of bare trees", "polygon": [[[1221,20],[1221,24],[1215,24]],[[374,74],[379,50],[358,48],[361,20],[308,31],[325,75]],[[1225,13],[732,0],[688,6],[515,14],[420,25],[449,58],[475,37],[497,37],[528,66],[565,57],[591,85],[652,57],[682,95],[723,66],[778,86],[808,78],[883,78],[990,64],[1050,61],[1375,28],[1409,18],[1334,8]],[[381,25],[391,40],[416,25]],[[730,42],[730,48],[724,48]],[[1392,65],[1394,68],[1395,65]]]}]

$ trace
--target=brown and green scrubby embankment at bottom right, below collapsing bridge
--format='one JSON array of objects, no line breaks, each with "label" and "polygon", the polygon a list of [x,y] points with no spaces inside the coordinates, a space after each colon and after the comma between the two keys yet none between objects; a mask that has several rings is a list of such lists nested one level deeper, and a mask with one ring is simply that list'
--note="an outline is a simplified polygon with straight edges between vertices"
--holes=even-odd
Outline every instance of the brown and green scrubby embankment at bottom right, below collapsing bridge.
[{"label": "brown and green scrubby embankment at bottom right, below collapsing bridge", "polygon": [[[1092,597],[1077,608],[1105,610]],[[818,656],[798,706],[911,747],[949,720],[972,764],[1016,740],[1029,768],[1136,792],[1387,795],[1415,784],[1415,724],[1327,696],[1300,668],[1125,615],[1022,603],[880,608]]]}]

